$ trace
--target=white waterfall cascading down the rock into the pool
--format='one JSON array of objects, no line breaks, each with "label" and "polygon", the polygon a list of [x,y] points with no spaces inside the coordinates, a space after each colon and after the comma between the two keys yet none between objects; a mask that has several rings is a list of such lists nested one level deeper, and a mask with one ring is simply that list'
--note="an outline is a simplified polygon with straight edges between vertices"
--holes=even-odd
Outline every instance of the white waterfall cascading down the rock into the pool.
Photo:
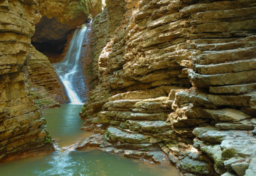
[{"label": "white waterfall cascading down the rock into the pool", "polygon": [[85,90],[80,56],[86,29],[86,26],[83,25],[81,29],[75,30],[66,56],[61,62],[53,65],[71,104],[83,103],[82,95],[79,95],[78,92],[81,88]]}]

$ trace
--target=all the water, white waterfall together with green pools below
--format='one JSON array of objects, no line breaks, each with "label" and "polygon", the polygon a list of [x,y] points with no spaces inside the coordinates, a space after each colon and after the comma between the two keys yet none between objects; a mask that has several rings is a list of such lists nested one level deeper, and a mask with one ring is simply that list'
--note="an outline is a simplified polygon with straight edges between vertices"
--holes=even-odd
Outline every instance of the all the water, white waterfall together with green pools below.
[{"label": "all the water, white waterfall together with green pools below", "polygon": [[[57,75],[66,88],[71,104],[62,105],[57,109],[44,110],[48,121],[47,128],[55,140],[55,153],[44,157],[21,159],[15,162],[0,164],[1,176],[52,176],[52,175],[179,175],[174,167],[148,168],[143,163],[122,159],[115,155],[101,153],[96,150],[76,151],[79,141],[91,136],[91,133],[80,130],[84,123],[80,112],[85,85],[80,57],[82,46],[89,43],[87,37],[90,28],[83,26],[76,30],[64,60],[54,65]],[[84,48],[83,53],[86,53]],[[25,169],[24,169],[25,168]]]}]

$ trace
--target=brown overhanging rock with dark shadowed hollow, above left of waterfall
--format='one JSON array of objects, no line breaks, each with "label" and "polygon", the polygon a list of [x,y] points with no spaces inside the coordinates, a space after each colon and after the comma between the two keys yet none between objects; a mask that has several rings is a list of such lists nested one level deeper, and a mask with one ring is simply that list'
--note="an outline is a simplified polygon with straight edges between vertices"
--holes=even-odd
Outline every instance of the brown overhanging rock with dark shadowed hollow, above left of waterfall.
[{"label": "brown overhanging rock with dark shadowed hollow, above left of waterfall", "polygon": [[89,14],[95,17],[101,11],[100,0],[39,0],[42,19],[36,25],[33,45],[48,57],[60,57],[74,28],[85,23]]}]

